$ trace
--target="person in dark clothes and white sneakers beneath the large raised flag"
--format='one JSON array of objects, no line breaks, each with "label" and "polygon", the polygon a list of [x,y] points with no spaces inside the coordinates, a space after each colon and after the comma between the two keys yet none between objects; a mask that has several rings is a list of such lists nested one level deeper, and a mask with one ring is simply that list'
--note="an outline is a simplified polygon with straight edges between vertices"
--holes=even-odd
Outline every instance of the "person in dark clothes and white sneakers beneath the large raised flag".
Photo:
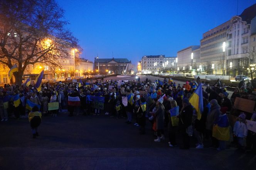
[{"label": "person in dark clothes and white sneakers beneath the large raised flag", "polygon": [[205,123],[206,123],[206,119],[207,119],[207,115],[210,112],[210,108],[211,105],[208,102],[208,100],[206,98],[203,99],[204,102],[204,112],[201,115],[200,120],[199,119],[195,119],[195,124],[194,124],[194,134],[195,137],[197,138],[197,149],[202,149],[204,148],[204,132],[205,132]]}]

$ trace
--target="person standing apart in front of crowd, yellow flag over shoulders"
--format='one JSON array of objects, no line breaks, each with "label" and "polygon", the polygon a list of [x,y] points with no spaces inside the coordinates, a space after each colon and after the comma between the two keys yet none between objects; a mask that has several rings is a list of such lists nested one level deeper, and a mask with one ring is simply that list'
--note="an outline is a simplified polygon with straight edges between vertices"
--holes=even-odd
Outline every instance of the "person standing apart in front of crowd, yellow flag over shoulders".
[{"label": "person standing apart in front of crowd, yellow flag over shoulders", "polygon": [[29,122],[30,122],[33,138],[35,138],[36,136],[39,136],[39,133],[37,132],[37,128],[41,123],[41,117],[42,117],[42,113],[39,112],[38,107],[37,106],[33,107],[32,111],[29,113]]}]

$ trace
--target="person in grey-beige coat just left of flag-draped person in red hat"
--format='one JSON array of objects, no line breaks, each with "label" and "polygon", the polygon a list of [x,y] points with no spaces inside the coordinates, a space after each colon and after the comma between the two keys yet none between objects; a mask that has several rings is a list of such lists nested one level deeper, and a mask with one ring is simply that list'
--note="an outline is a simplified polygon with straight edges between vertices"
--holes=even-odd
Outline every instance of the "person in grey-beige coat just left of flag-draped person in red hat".
[{"label": "person in grey-beige coat just left of flag-draped person in red hat", "polygon": [[219,120],[219,115],[221,114],[221,107],[218,104],[216,99],[211,100],[211,111],[209,115],[207,115],[206,119],[206,130],[209,136],[212,138],[212,147],[219,147],[219,142],[216,138],[212,137],[212,128],[214,125],[214,122],[217,122]]}]

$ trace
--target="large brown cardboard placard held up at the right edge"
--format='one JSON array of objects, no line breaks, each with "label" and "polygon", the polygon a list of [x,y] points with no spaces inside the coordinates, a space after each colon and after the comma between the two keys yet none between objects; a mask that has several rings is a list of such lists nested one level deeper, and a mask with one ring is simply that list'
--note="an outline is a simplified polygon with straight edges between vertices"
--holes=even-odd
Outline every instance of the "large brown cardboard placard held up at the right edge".
[{"label": "large brown cardboard placard held up at the right edge", "polygon": [[242,110],[244,112],[253,113],[255,101],[245,98],[236,97],[234,108]]}]

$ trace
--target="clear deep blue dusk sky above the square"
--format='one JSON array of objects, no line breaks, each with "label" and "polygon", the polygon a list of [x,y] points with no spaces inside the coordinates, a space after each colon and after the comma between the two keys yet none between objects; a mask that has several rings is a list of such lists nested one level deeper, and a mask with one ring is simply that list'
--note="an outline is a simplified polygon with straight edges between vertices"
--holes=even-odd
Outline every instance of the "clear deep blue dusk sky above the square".
[{"label": "clear deep blue dusk sky above the square", "polygon": [[[67,27],[79,39],[82,57],[128,58],[143,55],[173,57],[202,34],[237,14],[237,0],[57,0],[66,11]],[[256,3],[239,0],[238,15]]]}]

